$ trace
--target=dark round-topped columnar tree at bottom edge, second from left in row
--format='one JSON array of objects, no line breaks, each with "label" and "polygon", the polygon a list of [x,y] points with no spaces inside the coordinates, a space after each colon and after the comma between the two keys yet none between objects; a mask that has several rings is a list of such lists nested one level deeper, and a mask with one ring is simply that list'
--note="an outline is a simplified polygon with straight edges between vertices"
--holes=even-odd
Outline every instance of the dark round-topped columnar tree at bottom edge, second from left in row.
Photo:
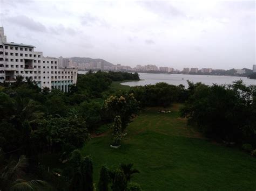
[{"label": "dark round-topped columnar tree at bottom edge, second from left in row", "polygon": [[83,180],[83,190],[92,191],[93,190],[93,167],[92,160],[90,157],[85,157],[81,163],[81,174]]}]

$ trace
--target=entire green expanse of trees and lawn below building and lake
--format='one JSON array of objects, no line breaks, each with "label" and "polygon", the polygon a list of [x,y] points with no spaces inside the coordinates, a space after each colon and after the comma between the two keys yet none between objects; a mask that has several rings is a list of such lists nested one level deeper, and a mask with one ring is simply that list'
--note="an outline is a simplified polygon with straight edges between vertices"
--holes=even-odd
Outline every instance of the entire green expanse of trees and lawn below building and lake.
[{"label": "entire green expanse of trees and lawn below building and lake", "polygon": [[[0,189],[41,180],[53,190],[255,189],[255,86],[123,80],[139,77],[90,71],[69,93],[22,76],[2,84]],[[24,155],[26,173],[13,173]]]}]

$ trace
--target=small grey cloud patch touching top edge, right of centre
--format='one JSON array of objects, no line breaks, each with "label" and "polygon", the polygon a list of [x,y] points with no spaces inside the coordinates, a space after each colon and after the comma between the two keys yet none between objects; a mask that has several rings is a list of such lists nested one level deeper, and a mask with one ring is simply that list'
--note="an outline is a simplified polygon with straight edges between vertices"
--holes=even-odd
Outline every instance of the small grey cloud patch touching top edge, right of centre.
[{"label": "small grey cloud patch touching top edge, right of centre", "polygon": [[144,8],[161,17],[185,17],[185,14],[165,1],[139,2]]}]

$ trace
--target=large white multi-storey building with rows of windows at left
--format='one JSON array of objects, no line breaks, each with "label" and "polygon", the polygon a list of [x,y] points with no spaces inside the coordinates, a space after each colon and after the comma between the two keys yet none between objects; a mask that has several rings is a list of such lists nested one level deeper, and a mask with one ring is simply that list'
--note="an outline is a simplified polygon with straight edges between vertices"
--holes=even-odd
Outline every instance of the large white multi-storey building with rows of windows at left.
[{"label": "large white multi-storey building with rows of windows at left", "polygon": [[69,91],[76,84],[77,69],[60,68],[57,58],[44,57],[42,52],[34,51],[35,46],[7,43],[3,27],[0,27],[0,83],[15,82],[17,75],[35,81],[44,87]]}]

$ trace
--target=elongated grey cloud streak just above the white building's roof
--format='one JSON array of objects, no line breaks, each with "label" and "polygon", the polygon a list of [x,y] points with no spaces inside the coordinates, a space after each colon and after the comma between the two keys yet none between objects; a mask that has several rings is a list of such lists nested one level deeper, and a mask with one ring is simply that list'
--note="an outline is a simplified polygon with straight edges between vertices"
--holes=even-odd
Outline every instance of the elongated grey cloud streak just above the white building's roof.
[{"label": "elongated grey cloud streak just above the white building's roof", "polygon": [[46,32],[46,27],[42,23],[36,22],[32,18],[24,15],[8,17],[6,20],[16,25],[23,26],[31,31]]}]

